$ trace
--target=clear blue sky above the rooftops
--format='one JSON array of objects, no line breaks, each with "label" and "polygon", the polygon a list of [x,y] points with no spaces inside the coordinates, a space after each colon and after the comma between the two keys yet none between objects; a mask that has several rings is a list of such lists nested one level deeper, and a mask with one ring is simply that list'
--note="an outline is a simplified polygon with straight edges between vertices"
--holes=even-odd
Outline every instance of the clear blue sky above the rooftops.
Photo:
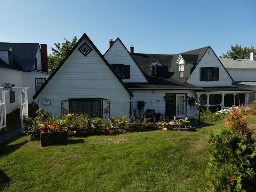
[{"label": "clear blue sky above the rooftops", "polygon": [[0,0],[0,42],[48,44],[86,33],[100,52],[119,37],[137,53],[256,47],[255,0]]}]

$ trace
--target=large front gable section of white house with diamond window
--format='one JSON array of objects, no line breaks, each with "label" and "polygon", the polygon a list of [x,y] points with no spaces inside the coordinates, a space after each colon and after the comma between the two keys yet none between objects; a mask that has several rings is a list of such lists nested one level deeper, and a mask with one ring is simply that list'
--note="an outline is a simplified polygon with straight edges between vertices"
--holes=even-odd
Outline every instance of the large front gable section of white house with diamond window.
[{"label": "large front gable section of white house with diamond window", "polygon": [[55,116],[87,113],[108,120],[129,114],[132,93],[84,34],[36,92],[39,107]]}]

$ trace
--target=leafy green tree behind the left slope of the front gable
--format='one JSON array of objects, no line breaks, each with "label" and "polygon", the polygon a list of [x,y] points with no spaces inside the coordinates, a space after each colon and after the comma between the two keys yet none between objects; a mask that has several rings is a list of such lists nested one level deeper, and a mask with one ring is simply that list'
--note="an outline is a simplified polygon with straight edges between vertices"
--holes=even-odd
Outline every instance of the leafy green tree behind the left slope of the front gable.
[{"label": "leafy green tree behind the left slope of the front gable", "polygon": [[72,41],[68,41],[64,39],[63,43],[54,43],[55,48],[51,47],[52,53],[48,56],[48,69],[49,72],[52,73],[62,62],[64,57],[68,54],[68,52],[74,47],[77,42],[76,36],[72,39]]}]

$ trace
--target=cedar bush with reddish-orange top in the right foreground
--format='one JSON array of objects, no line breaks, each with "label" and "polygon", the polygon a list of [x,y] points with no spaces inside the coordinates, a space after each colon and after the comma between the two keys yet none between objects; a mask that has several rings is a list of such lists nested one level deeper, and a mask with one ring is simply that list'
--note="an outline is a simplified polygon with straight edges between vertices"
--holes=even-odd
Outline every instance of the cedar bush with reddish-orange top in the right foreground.
[{"label": "cedar bush with reddish-orange top in the right foreground", "polygon": [[233,108],[225,126],[228,128],[209,139],[209,188],[214,192],[245,192],[253,187],[256,176],[256,140],[239,108]]}]

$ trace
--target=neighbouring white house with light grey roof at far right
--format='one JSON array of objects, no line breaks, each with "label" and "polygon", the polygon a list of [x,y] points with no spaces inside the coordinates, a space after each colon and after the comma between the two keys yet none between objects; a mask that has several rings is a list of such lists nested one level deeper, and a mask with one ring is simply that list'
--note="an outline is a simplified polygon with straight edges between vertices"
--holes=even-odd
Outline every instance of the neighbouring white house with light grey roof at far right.
[{"label": "neighbouring white house with light grey roof at far right", "polygon": [[249,94],[249,102],[256,100],[256,60],[255,53],[250,53],[250,59],[221,58],[220,61],[232,76],[233,86],[253,90]]}]

